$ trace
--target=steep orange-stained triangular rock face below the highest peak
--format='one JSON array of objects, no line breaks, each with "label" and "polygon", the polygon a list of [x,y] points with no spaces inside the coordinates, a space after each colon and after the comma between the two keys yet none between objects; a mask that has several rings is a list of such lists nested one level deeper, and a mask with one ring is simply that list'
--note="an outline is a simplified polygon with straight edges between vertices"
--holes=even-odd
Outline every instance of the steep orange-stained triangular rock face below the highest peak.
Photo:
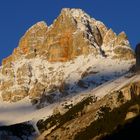
[{"label": "steep orange-stained triangular rock face below the highest peak", "polygon": [[84,33],[76,31],[76,19],[67,9],[62,10],[53,26],[49,28],[43,45],[48,50],[47,59],[50,62],[69,61],[81,54],[89,53],[90,47],[84,40]]}]

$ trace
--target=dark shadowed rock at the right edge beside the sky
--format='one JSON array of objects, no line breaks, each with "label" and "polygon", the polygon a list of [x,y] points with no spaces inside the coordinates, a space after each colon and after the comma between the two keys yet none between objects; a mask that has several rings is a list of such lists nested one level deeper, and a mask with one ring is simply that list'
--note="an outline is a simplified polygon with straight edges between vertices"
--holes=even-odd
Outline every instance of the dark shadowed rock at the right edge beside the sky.
[{"label": "dark shadowed rock at the right edge beside the sky", "polygon": [[140,44],[136,46],[135,53],[136,53],[136,70],[140,71]]}]

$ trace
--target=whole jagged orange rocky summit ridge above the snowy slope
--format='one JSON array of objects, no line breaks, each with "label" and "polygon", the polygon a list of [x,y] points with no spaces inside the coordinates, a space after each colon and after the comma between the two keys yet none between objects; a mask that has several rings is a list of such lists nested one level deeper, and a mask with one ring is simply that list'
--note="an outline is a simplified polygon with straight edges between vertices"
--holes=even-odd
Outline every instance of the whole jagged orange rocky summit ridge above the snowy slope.
[{"label": "whole jagged orange rocky summit ridge above the snowy slope", "polygon": [[[123,51],[127,55],[122,55]],[[51,26],[48,27],[44,21],[33,25],[2,64],[36,57],[49,62],[67,62],[91,52],[95,56],[134,58],[124,32],[116,35],[80,9],[63,9]]]}]

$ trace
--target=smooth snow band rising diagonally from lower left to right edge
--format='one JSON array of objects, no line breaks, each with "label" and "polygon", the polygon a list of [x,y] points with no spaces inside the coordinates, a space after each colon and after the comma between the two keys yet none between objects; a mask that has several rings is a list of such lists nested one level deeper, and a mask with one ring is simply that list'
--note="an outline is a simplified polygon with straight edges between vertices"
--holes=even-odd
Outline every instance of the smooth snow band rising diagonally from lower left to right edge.
[{"label": "smooth snow band rising diagonally from lower left to right edge", "polygon": [[[39,134],[36,123],[39,120],[46,120],[53,114],[60,112],[65,114],[70,108],[81,102],[83,99],[88,97],[93,97],[93,100],[96,99],[96,102],[104,98],[106,95],[113,92],[117,92],[130,83],[139,82],[140,75],[135,75],[133,73],[126,74],[116,80],[111,80],[102,84],[101,86],[86,92],[81,92],[80,94],[69,95],[63,97],[56,103],[50,104],[47,107],[37,110],[29,104],[29,99],[25,98],[22,101],[16,103],[3,103],[1,102],[1,111],[0,116],[1,126],[3,125],[13,125],[18,123],[30,122],[32,126],[36,129],[36,133]],[[57,112],[56,112],[57,111]],[[16,116],[16,117],[15,117]],[[46,133],[44,133],[45,135]]]}]

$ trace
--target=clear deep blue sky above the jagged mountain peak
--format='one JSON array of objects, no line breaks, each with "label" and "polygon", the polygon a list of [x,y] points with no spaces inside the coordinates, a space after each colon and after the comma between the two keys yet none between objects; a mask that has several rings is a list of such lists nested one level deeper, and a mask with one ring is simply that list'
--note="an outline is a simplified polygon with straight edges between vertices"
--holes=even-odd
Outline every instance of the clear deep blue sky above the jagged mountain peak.
[{"label": "clear deep blue sky above the jagged mountain peak", "polygon": [[140,0],[0,0],[0,61],[31,25],[50,25],[65,7],[83,9],[116,33],[125,31],[133,48],[140,42]]}]

